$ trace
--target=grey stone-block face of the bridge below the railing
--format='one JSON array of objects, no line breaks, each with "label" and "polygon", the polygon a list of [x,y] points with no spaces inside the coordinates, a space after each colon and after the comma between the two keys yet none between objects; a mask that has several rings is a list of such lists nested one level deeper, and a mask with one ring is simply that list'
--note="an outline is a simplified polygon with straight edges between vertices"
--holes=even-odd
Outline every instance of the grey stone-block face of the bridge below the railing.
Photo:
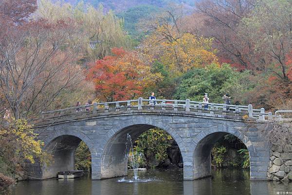
[{"label": "grey stone-block face of the bridge below the railing", "polygon": [[[35,131],[46,147],[54,140],[64,146],[71,143],[70,140],[67,142],[59,139],[64,136],[84,141],[91,150],[91,178],[102,179],[127,174],[123,147],[126,147],[128,133],[135,140],[149,128],[159,127],[171,135],[180,148],[185,180],[211,175],[212,146],[220,137],[229,133],[244,142],[250,152],[251,180],[266,180],[270,160],[269,148],[266,142],[259,139],[257,124],[208,113],[131,110],[80,116],[54,124],[44,122],[35,126]],[[66,161],[65,155],[58,157],[59,160],[55,160],[55,170],[50,171],[52,174],[56,174],[57,169],[61,169]],[[37,167],[33,167],[31,170],[31,176],[37,173],[39,177],[49,178],[45,177],[46,169],[39,172]]]}]

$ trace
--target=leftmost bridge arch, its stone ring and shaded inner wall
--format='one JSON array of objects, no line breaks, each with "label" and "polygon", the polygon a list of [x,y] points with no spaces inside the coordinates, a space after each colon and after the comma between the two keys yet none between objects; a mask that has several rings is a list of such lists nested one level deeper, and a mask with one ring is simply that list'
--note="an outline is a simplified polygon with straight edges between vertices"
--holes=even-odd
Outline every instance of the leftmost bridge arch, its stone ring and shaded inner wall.
[{"label": "leftmost bridge arch, its stone ring and shaded inner wall", "polygon": [[59,171],[72,171],[75,165],[75,150],[83,141],[94,154],[94,147],[90,139],[77,131],[61,130],[44,139],[45,150],[53,155],[54,162],[50,166],[42,167],[42,178],[57,177]]}]

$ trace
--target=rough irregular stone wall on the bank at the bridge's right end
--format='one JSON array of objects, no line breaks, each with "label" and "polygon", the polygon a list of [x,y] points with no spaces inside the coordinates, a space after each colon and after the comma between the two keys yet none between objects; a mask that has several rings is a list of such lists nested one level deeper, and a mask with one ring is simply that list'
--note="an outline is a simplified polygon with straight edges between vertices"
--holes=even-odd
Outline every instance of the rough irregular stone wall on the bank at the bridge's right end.
[{"label": "rough irregular stone wall on the bank at the bridge's right end", "polygon": [[272,145],[267,177],[274,181],[292,182],[292,145]]}]

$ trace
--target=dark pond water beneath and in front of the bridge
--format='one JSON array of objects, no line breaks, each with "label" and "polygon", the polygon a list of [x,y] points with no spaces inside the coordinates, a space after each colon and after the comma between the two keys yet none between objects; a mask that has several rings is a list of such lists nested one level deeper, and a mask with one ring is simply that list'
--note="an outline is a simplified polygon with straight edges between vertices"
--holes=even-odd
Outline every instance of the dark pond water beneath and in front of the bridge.
[{"label": "dark pond water beneath and in front of the bridge", "polygon": [[13,187],[12,195],[277,195],[291,192],[292,183],[250,181],[243,169],[212,170],[212,177],[183,181],[183,169],[149,169],[139,171],[142,182],[128,177],[91,180],[76,179],[22,181]]}]

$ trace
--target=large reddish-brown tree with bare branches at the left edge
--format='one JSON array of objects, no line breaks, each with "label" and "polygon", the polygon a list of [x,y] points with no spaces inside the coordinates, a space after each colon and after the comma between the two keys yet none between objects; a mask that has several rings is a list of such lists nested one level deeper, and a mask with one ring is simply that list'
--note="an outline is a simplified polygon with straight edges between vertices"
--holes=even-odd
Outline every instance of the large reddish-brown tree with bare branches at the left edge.
[{"label": "large reddish-brown tree with bare branches at the left edge", "polygon": [[[13,7],[15,1],[9,2],[7,7]],[[84,78],[76,64],[82,47],[72,42],[76,28],[71,20],[50,23],[18,18],[21,23],[11,22],[13,13],[28,17],[34,11],[18,14],[27,11],[22,9],[27,2],[19,2],[18,11],[1,7],[6,10],[3,18],[8,18],[0,21],[0,88],[5,100],[1,111],[8,109],[15,119],[49,108],[63,91],[78,90]]]}]

